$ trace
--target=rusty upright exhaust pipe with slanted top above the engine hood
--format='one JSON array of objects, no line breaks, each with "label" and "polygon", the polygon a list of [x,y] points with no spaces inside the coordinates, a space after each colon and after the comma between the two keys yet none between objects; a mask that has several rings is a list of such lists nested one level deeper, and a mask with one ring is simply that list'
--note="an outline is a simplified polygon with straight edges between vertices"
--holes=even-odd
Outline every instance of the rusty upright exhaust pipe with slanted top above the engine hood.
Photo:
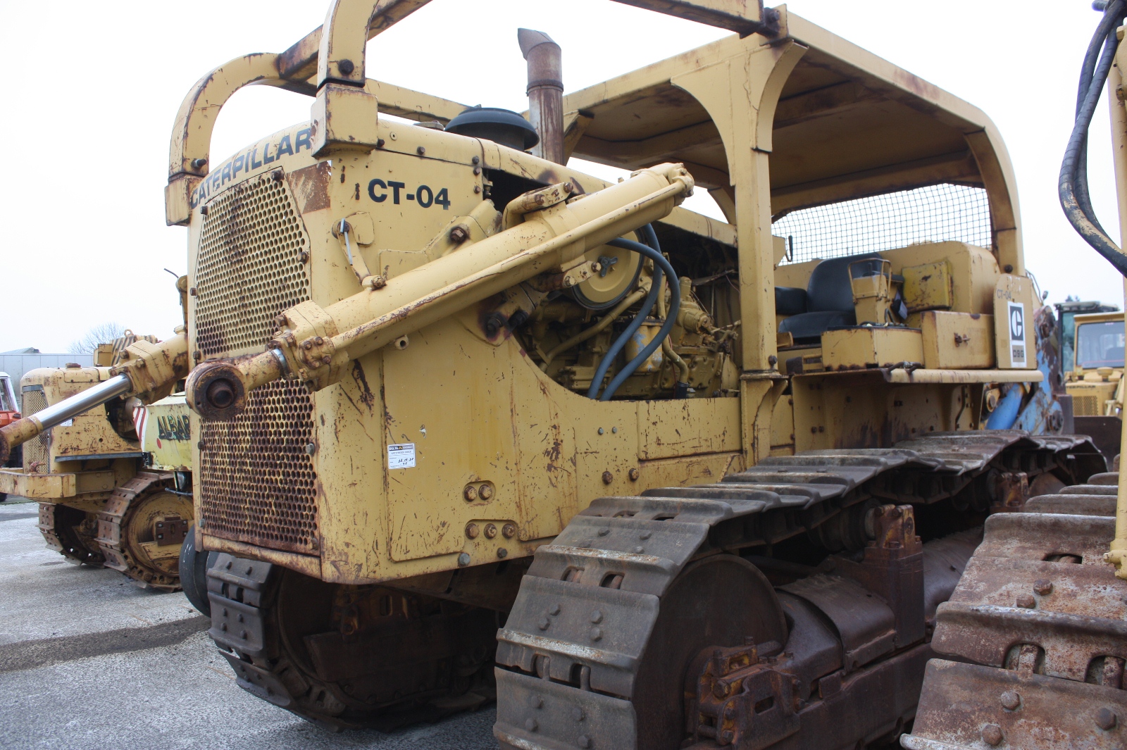
[{"label": "rusty upright exhaust pipe with slanted top above the engine hood", "polygon": [[529,61],[529,119],[540,135],[533,155],[562,164],[564,62],[560,45],[543,32],[516,32],[521,54]]}]

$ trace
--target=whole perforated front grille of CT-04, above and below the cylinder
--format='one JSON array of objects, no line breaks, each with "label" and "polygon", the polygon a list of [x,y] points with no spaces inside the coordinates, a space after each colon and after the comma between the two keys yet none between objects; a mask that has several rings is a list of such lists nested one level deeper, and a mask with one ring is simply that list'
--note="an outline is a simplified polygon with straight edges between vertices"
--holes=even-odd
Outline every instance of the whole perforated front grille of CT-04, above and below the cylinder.
[{"label": "whole perforated front grille of CT-04, above and below the cylinder", "polygon": [[[281,179],[279,179],[281,178]],[[274,318],[309,300],[309,238],[281,171],[247,180],[207,206],[199,239],[195,347],[204,357],[266,345]],[[305,446],[313,403],[287,381],[251,391],[246,412],[201,428],[203,529],[270,550],[317,554],[316,474]]]}]

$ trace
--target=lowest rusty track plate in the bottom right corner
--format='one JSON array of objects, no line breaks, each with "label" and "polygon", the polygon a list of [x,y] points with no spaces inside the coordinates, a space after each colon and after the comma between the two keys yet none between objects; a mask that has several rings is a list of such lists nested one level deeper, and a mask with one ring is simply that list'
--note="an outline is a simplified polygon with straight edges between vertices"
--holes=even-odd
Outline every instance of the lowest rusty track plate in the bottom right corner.
[{"label": "lowest rusty track plate in the bottom right corner", "polygon": [[1127,691],[934,659],[908,750],[1111,750],[1127,747]]}]

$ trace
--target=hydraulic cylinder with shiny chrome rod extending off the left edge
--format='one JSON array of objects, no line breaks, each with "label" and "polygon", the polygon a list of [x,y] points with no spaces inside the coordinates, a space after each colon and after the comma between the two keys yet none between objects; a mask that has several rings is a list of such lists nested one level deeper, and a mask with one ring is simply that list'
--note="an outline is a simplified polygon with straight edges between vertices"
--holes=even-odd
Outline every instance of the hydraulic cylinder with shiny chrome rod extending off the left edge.
[{"label": "hydraulic cylinder with shiny chrome rod extending off the left edge", "polygon": [[16,446],[117,396],[133,395],[145,403],[167,396],[188,374],[187,329],[178,325],[176,334],[160,343],[134,341],[122,352],[122,360],[108,381],[0,428],[0,463]]}]

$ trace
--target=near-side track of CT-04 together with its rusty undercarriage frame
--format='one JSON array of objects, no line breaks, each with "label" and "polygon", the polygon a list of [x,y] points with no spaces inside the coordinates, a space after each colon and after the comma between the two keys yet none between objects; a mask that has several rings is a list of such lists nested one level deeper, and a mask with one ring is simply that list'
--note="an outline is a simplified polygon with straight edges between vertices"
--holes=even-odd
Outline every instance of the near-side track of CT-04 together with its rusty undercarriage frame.
[{"label": "near-side track of CT-04 together with its rusty undercarriage frame", "polygon": [[[887,450],[767,458],[716,484],[596,500],[557,543],[540,547],[498,633],[502,689],[495,734],[503,747],[574,747],[573,725],[542,721],[541,709],[526,703],[525,689],[506,687],[539,677],[551,679],[547,684],[566,705],[614,703],[616,708],[585,735],[589,744],[580,747],[677,747],[685,738],[694,748],[851,747],[890,739],[911,720],[916,686],[933,653],[924,645],[929,615],[955,588],[978,536],[970,530],[940,539],[929,553],[930,545],[921,550],[915,536],[911,507],[862,499],[909,485],[914,502],[951,498],[965,503],[960,498],[993,481],[1000,470],[1022,470],[1015,473],[1026,477],[1068,471],[1086,479],[1090,467],[1081,468],[1084,459],[1076,456],[1094,453],[1068,436],[930,435]],[[1021,486],[1028,492],[1028,482]],[[873,515],[877,509],[880,516]],[[850,524],[868,520],[870,546],[862,542],[860,557],[832,556],[815,575],[780,588],[780,606],[795,627],[789,642],[756,635],[740,643],[716,633],[709,640],[703,625],[671,630],[662,624],[663,613],[706,613],[718,600],[731,609],[740,596],[762,596],[728,593],[747,584],[712,592],[699,583],[692,587],[699,601],[667,601],[684,590],[678,581],[699,564],[692,560],[731,559],[717,553],[784,539],[834,514],[842,519],[837,536],[827,532],[820,538],[848,544],[854,538]],[[929,571],[939,573],[930,583]],[[773,606],[757,608],[772,611]],[[584,617],[588,614],[596,619]],[[724,623],[725,616],[716,620]],[[669,632],[678,637],[669,639]],[[695,661],[681,653],[690,645],[704,649]],[[709,667],[713,646],[739,663]],[[660,668],[653,667],[660,660]],[[666,705],[653,685],[667,680],[671,670],[682,673],[685,664],[696,680],[684,687],[686,704]],[[891,682],[903,689],[889,691]],[[620,700],[633,704],[629,721]],[[756,722],[756,711],[772,711],[769,706],[777,706],[770,721]]]}]

